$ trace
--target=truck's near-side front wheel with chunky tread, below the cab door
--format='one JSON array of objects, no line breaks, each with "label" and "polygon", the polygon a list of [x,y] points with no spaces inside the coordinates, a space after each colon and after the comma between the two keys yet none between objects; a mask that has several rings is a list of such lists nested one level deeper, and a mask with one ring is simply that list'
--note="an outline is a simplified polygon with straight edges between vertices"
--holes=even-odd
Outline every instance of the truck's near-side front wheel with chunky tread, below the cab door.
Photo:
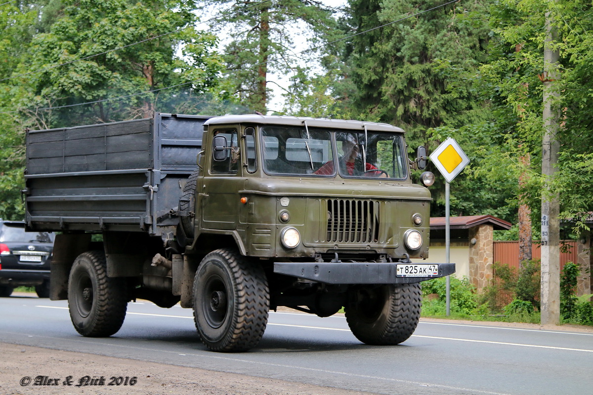
[{"label": "truck's near-side front wheel with chunky tread, below the cab door", "polygon": [[270,296],[266,274],[234,249],[206,255],[193,283],[193,316],[212,351],[248,351],[266,330]]}]

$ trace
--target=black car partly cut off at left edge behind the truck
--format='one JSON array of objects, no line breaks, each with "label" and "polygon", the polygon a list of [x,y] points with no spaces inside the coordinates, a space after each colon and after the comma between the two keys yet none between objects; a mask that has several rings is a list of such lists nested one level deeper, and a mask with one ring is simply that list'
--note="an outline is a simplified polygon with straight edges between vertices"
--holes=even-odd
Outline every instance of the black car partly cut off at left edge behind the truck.
[{"label": "black car partly cut off at left edge behind the truck", "polygon": [[22,221],[0,219],[0,297],[15,287],[35,287],[40,298],[49,297],[49,264],[55,235],[25,232]]}]

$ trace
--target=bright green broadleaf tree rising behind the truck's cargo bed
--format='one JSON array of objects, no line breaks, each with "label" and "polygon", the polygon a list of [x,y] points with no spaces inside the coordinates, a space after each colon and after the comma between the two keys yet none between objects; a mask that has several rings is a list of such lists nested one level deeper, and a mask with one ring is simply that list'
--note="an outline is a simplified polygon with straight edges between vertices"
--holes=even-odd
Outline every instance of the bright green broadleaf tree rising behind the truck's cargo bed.
[{"label": "bright green broadleaf tree rising behind the truck's cargo bed", "polygon": [[[43,70],[27,76],[38,99],[25,98],[19,104],[31,107],[39,101],[55,107],[122,98],[44,115],[52,126],[146,117],[160,101],[183,91],[161,88],[186,84],[181,86],[202,92],[215,82],[211,76],[221,67],[213,52],[216,37],[193,27],[197,18],[191,4],[174,0],[60,4],[57,19],[33,37],[31,57],[15,70]],[[176,33],[168,34],[171,31]],[[62,63],[66,64],[54,67]]]}]

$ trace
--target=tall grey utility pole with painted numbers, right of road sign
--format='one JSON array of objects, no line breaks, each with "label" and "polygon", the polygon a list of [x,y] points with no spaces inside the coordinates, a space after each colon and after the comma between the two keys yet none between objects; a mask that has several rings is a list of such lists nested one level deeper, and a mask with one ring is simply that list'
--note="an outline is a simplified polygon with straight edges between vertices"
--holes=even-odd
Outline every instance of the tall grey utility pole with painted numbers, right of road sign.
[{"label": "tall grey utility pole with painted numbers, right of road sign", "polygon": [[560,121],[560,94],[555,85],[559,78],[558,60],[560,54],[553,49],[557,43],[557,32],[552,26],[551,12],[546,12],[546,41],[544,43],[544,136],[542,139],[541,175],[544,188],[541,195],[541,325],[560,323],[560,200],[556,193],[550,193],[558,161],[560,143],[558,131]]}]

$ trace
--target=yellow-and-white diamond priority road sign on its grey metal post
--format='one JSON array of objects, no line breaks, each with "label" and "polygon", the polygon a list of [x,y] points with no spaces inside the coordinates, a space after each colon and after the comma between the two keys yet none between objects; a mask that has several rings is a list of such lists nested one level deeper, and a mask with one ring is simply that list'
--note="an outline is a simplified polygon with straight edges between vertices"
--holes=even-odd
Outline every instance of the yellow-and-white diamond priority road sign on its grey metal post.
[{"label": "yellow-and-white diamond priority road sign on its grey metal post", "polygon": [[[451,223],[449,220],[449,195],[450,185],[455,176],[470,163],[463,149],[455,139],[449,137],[441,143],[429,156],[439,172],[445,177],[445,263],[451,262]],[[447,316],[451,314],[451,278],[447,276]]]}]

